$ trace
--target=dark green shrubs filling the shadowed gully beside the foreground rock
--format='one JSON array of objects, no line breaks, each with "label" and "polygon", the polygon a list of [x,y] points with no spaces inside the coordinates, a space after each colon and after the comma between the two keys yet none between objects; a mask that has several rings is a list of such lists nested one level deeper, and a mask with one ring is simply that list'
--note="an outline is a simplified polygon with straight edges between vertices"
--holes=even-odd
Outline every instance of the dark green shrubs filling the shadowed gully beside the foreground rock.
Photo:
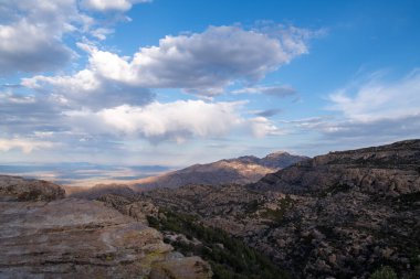
[{"label": "dark green shrubs filling the shadowed gully beside the foreground rock", "polygon": [[183,234],[189,239],[199,239],[202,244],[197,246],[182,242],[174,242],[171,245],[183,255],[193,254],[209,261],[213,278],[286,278],[285,272],[269,258],[228,233],[203,226],[198,218],[187,214],[172,211],[164,211],[164,214],[166,218],[150,218],[150,226],[159,230]]}]

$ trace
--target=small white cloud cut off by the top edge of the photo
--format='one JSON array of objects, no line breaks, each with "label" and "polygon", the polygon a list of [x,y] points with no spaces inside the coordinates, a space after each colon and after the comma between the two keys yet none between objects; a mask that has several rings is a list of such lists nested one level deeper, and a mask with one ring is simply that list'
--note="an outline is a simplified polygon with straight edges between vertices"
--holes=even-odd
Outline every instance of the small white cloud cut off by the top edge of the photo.
[{"label": "small white cloud cut off by the top edge of the photo", "polygon": [[82,0],[81,6],[95,11],[128,11],[133,4],[150,2],[151,0]]}]

